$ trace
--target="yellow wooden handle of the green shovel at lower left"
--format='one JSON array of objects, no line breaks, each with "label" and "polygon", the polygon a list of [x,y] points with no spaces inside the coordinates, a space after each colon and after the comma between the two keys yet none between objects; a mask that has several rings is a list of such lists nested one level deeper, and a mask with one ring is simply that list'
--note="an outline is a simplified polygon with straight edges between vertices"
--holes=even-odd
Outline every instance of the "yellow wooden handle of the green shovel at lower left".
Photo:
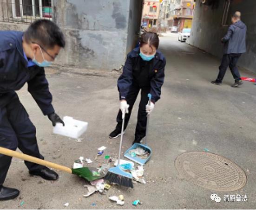
[{"label": "yellow wooden handle of the green shovel at lower left", "polygon": [[72,173],[71,168],[68,168],[66,166],[51,163],[49,161],[39,159],[39,158],[35,158],[35,157],[27,155],[27,154],[18,153],[18,152],[15,152],[13,150],[10,150],[10,149],[7,149],[7,148],[1,147],[1,146],[0,146],[0,154],[4,154],[4,155],[11,156],[11,157],[14,157],[14,158],[23,159],[23,160],[29,161],[31,163],[44,165],[44,166],[49,167],[49,168],[55,168],[55,169],[58,169],[58,170],[63,171],[63,172]]}]

